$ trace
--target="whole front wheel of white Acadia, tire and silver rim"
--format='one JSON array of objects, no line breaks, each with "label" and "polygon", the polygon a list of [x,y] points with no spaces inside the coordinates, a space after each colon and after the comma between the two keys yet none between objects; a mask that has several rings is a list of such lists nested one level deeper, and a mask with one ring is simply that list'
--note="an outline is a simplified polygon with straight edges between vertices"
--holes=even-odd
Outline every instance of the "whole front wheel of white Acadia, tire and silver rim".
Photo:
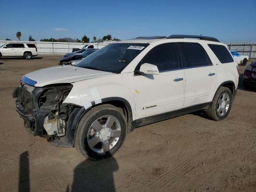
[{"label": "whole front wheel of white Acadia, tire and silver rim", "polygon": [[118,108],[110,104],[96,106],[80,120],[75,147],[86,158],[102,160],[122,146],[126,132],[126,118]]}]

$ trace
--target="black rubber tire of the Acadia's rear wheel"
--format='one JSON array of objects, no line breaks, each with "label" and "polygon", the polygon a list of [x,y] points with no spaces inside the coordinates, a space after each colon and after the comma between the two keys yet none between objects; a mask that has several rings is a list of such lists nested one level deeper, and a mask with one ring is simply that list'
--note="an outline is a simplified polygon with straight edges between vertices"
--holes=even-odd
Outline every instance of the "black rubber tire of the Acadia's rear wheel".
[{"label": "black rubber tire of the Acadia's rear wheel", "polygon": [[[228,94],[228,97],[229,97],[229,106],[228,106],[228,110],[225,110],[225,114],[224,112],[222,112],[222,114],[219,114],[221,113],[220,110],[222,110],[220,104],[218,104],[218,101],[219,99],[221,100],[223,94]],[[226,87],[220,87],[219,90],[217,91],[216,95],[214,96],[214,99],[213,99],[213,102],[212,102],[212,105],[210,106],[210,108],[208,110],[206,110],[206,115],[209,119],[212,119],[212,120],[215,120],[215,121],[220,121],[220,120],[223,120],[225,119],[229,112],[230,112],[230,109],[232,107],[232,93],[230,91],[229,88],[226,88]],[[219,108],[219,110],[218,110]]]}]

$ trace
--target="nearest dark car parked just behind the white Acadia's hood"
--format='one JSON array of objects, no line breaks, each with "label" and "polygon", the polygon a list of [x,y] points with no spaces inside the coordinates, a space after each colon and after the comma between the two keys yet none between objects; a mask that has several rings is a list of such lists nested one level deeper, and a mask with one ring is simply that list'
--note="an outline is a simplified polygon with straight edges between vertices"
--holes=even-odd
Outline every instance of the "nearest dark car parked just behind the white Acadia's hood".
[{"label": "nearest dark car parked just behind the white Acadia's hood", "polygon": [[81,54],[74,54],[69,57],[64,57],[60,60],[59,65],[76,65],[78,62],[80,62],[82,59],[86,58],[90,54],[97,51],[97,49],[94,50],[87,50]]}]

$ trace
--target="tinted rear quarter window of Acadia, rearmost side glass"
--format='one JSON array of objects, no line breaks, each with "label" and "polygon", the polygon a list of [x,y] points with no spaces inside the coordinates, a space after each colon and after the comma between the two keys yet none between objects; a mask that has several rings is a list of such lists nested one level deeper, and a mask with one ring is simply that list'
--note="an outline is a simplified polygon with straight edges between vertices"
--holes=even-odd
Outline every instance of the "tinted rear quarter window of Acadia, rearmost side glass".
[{"label": "tinted rear quarter window of Acadia, rearmost side glass", "polygon": [[216,55],[218,60],[220,60],[221,63],[230,63],[234,62],[230,52],[228,49],[223,45],[216,45],[216,44],[208,44],[212,52]]}]

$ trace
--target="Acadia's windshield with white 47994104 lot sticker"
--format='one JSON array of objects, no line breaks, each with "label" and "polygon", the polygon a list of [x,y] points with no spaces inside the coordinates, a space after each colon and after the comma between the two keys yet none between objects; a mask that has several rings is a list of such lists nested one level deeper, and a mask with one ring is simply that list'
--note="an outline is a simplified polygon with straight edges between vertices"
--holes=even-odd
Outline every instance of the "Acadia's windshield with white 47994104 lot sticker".
[{"label": "Acadia's windshield with white 47994104 lot sticker", "polygon": [[101,48],[76,66],[120,73],[149,44],[114,43]]}]

